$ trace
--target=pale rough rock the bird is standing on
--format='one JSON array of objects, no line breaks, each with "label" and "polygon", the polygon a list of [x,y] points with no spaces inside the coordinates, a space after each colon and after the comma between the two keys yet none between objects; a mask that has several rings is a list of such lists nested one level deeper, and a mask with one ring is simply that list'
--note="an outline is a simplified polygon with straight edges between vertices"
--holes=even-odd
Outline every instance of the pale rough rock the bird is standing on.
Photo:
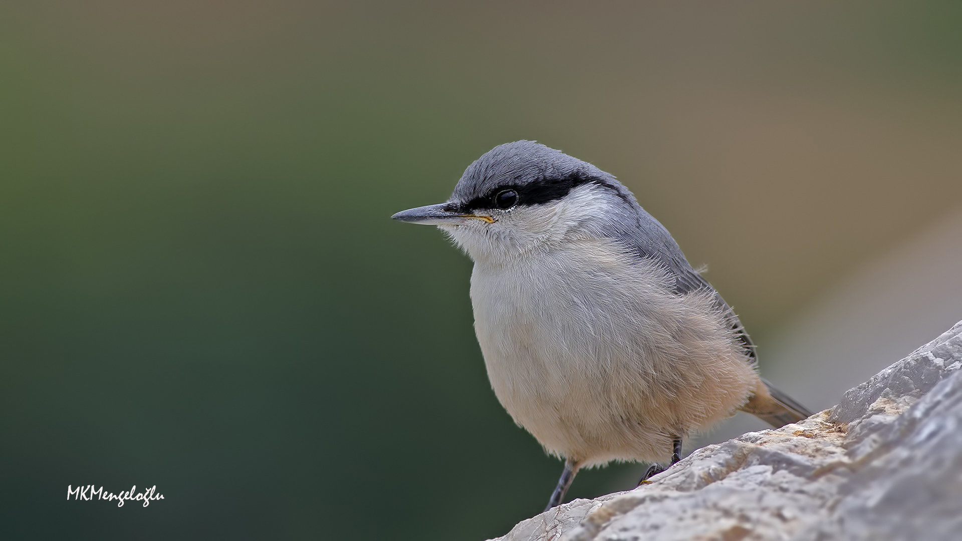
[{"label": "pale rough rock the bird is standing on", "polygon": [[697,450],[650,484],[565,503],[497,541],[962,539],[960,367],[962,322],[831,409]]}]

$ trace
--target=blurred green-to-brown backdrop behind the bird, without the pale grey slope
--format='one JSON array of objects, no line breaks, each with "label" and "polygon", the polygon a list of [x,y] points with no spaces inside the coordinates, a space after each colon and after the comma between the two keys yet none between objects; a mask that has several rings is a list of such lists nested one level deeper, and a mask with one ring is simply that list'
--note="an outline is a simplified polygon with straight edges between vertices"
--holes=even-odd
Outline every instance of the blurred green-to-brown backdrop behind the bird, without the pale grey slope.
[{"label": "blurred green-to-brown backdrop behind the bird, without the pale grey slope", "polygon": [[[544,142],[764,344],[962,201],[959,28],[948,1],[4,2],[3,536],[507,532],[560,462],[494,399],[468,259],[392,213]],[[165,501],[64,501],[88,483]]]}]

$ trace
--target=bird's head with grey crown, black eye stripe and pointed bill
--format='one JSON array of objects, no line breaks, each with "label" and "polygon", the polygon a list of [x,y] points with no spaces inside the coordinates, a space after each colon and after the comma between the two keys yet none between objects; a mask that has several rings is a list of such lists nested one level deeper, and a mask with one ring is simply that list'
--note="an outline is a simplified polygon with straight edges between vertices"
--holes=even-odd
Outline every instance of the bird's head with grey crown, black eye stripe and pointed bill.
[{"label": "bird's head with grey crown, black eye stripe and pointed bill", "polygon": [[495,146],[465,170],[444,203],[392,218],[437,225],[475,261],[530,250],[636,222],[638,203],[615,177],[544,144]]}]

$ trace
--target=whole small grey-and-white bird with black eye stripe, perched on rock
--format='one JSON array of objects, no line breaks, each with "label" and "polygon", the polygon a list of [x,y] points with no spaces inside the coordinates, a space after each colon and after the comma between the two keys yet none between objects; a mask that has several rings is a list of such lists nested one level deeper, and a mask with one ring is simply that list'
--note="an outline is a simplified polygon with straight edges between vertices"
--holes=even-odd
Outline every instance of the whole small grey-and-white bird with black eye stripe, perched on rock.
[{"label": "whole small grey-and-white bird with black eye stripe, perched on rock", "polygon": [[775,427],[811,415],[759,376],[745,327],[668,230],[592,164],[539,142],[500,144],[447,201],[392,219],[436,225],[473,260],[494,395],[565,461],[545,510],[580,469],[645,461],[645,482],[736,411]]}]

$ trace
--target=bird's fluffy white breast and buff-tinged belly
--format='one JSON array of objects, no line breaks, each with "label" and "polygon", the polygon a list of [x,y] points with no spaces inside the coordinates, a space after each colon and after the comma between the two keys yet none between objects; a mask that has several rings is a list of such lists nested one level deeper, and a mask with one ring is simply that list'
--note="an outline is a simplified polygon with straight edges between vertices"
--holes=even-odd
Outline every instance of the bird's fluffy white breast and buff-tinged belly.
[{"label": "bird's fluffy white breast and buff-tinged belly", "polygon": [[709,296],[672,295],[605,239],[476,262],[471,301],[497,398],[585,465],[664,456],[670,434],[728,415],[756,377]]}]

